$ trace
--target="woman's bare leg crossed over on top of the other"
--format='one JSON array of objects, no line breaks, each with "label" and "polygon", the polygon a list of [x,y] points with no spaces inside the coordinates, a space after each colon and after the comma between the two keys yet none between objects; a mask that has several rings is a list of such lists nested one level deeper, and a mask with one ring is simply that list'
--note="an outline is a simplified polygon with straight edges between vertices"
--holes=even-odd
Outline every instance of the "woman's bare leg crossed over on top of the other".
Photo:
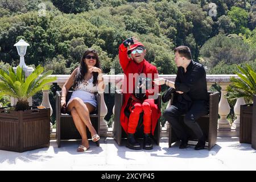
[{"label": "woman's bare leg crossed over on top of the other", "polygon": [[[87,104],[87,103],[86,103]],[[86,106],[84,102],[80,98],[74,98],[69,104],[68,104],[68,110],[72,110],[73,108],[76,109],[77,113],[79,114],[79,117],[82,119],[82,121],[85,123],[85,125],[88,127],[91,135],[97,134],[96,130],[92,126],[92,122],[90,122],[90,110],[92,107]],[[88,104],[87,104],[88,105]],[[92,110],[93,111],[93,110]]]}]

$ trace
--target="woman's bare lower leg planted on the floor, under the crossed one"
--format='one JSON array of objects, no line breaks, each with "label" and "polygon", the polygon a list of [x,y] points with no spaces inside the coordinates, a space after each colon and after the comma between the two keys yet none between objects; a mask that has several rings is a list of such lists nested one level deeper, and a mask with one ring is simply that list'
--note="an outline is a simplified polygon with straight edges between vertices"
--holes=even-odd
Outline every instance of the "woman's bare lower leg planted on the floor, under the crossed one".
[{"label": "woman's bare lower leg planted on the floor, under the crossed one", "polygon": [[82,122],[82,119],[80,118],[79,114],[77,113],[76,109],[73,107],[71,110],[71,115],[73,118],[73,121],[76,125],[77,130],[79,131],[81,137],[82,137],[82,146],[85,146],[86,148],[89,148],[89,142],[86,134],[86,126],[85,123]]}]

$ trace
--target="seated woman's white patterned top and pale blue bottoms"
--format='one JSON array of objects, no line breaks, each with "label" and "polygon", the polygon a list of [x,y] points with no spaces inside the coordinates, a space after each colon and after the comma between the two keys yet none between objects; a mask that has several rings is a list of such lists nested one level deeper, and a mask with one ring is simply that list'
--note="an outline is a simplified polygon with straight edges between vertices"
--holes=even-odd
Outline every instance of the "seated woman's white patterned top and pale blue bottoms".
[{"label": "seated woman's white patterned top and pale blue bottoms", "polygon": [[79,97],[84,103],[89,103],[94,107],[97,107],[97,101],[95,97],[96,92],[97,84],[93,86],[93,77],[90,78],[88,81],[79,82],[74,92],[72,93],[68,104],[73,100],[73,98]]}]

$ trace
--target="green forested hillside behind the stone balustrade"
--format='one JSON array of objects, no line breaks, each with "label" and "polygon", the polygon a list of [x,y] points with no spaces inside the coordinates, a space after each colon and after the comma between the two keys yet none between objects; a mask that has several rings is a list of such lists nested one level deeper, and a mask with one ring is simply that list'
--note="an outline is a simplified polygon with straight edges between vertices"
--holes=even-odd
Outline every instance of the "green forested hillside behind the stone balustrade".
[{"label": "green forested hillside behind the stone balustrade", "polygon": [[0,0],[0,66],[19,63],[13,45],[23,38],[30,44],[27,65],[69,74],[93,47],[105,73],[121,73],[118,46],[138,36],[161,74],[175,74],[172,50],[180,45],[208,73],[232,74],[235,64],[256,69],[255,24],[251,0]]}]

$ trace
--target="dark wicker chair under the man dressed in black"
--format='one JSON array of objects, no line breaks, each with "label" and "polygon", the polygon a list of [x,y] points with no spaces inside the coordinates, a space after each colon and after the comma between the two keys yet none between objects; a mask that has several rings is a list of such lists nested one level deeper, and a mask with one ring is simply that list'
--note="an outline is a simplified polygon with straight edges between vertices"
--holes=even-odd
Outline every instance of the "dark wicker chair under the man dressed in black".
[{"label": "dark wicker chair under the man dressed in black", "polygon": [[[203,130],[203,133],[207,137],[207,146],[208,150],[210,150],[214,144],[216,144],[217,141],[217,123],[218,123],[218,102],[220,100],[220,93],[218,92],[208,92],[210,100],[209,100],[209,114],[204,115],[203,117],[197,119],[197,123],[199,123],[199,126]],[[173,98],[173,95],[172,95]],[[173,99],[171,99],[172,101]],[[171,103],[172,104],[172,103]],[[180,123],[185,127],[185,130],[188,133],[188,140],[189,141],[197,141],[195,134],[192,132],[191,129],[189,129],[183,122],[183,116],[180,118]],[[174,142],[179,141],[177,136],[174,133],[174,130],[172,129],[170,125],[169,130],[169,147],[171,147],[171,144]],[[188,143],[190,144],[190,142]]]}]

